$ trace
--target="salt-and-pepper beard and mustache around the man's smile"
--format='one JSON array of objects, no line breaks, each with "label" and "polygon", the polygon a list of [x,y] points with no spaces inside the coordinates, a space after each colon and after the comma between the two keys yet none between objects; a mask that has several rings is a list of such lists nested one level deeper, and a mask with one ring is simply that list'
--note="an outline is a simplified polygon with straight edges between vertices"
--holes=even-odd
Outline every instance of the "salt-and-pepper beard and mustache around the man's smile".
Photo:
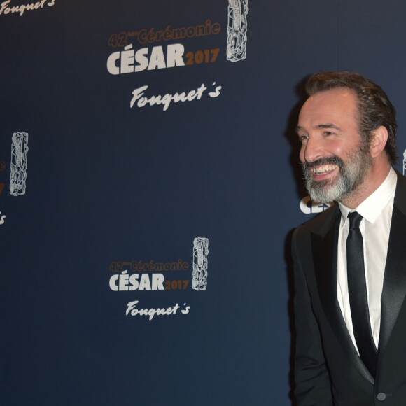
[{"label": "salt-and-pepper beard and mustache around the man's smile", "polygon": [[[336,179],[330,181],[314,181],[311,168],[318,165],[338,165],[339,174]],[[347,162],[337,156],[321,158],[315,162],[304,162],[302,165],[306,188],[311,200],[318,203],[342,201],[358,186],[363,183],[365,175],[372,164],[371,157],[363,148],[357,148],[349,155]]]}]

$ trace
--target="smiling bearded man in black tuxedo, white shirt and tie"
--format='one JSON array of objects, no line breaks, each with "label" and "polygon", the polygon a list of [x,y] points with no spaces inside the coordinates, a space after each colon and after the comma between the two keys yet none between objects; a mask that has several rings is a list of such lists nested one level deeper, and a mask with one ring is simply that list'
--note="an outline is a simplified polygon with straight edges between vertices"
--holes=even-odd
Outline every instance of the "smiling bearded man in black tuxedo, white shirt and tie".
[{"label": "smiling bearded man in black tuxedo, white shirt and tie", "polygon": [[406,405],[406,179],[395,109],[352,72],[316,73],[297,123],[316,202],[293,234],[300,406]]}]

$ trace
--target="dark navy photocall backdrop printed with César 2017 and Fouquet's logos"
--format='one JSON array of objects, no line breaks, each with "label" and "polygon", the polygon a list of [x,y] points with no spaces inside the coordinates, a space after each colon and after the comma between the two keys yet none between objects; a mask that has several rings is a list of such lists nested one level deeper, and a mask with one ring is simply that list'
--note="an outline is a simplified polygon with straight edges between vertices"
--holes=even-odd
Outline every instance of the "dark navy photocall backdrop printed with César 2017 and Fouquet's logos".
[{"label": "dark navy photocall backdrop printed with C\u00e9sar 2017 and Fouquet's logos", "polygon": [[0,404],[291,405],[303,82],[379,83],[400,0],[0,3]]}]

